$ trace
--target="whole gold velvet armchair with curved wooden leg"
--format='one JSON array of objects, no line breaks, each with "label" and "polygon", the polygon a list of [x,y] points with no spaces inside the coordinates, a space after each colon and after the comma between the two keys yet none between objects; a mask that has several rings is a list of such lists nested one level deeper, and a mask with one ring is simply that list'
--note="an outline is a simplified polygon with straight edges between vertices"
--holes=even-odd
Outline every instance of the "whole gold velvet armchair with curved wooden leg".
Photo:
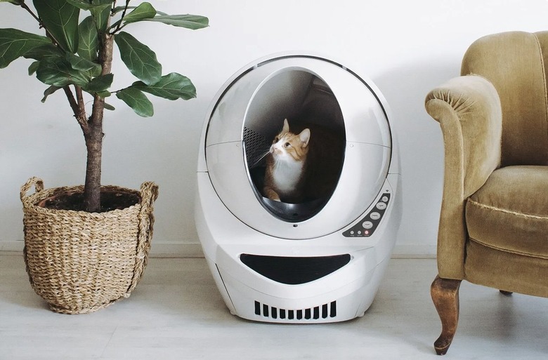
[{"label": "whole gold velvet armchair with curved wooden leg", "polygon": [[445,145],[438,276],[431,296],[451,345],[462,280],[548,298],[548,32],[472,44],[461,74],[426,96]]}]

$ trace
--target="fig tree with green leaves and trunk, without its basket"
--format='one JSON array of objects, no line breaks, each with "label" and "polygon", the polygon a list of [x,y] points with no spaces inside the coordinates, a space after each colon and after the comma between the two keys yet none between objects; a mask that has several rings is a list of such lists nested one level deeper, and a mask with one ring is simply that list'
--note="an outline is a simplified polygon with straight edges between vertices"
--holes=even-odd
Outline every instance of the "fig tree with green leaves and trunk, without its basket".
[{"label": "fig tree with green leaves and trunk, without its basket", "polygon": [[[107,103],[113,94],[140,116],[152,116],[148,95],[168,100],[195,98],[188,77],[162,74],[162,65],[148,46],[129,34],[137,22],[161,22],[175,27],[202,29],[209,20],[200,15],[167,15],[152,4],[131,0],[0,0],[20,6],[37,21],[42,34],[19,29],[0,29],[0,69],[13,60],[34,60],[29,74],[48,86],[48,96],[63,91],[84,133],[87,149],[86,180],[82,210],[100,211],[100,175],[103,113],[115,107]],[[45,34],[44,34],[45,33]],[[120,59],[136,81],[112,91],[112,53],[117,46]],[[91,112],[86,111],[90,102]],[[110,100],[108,100],[110,102]]]}]

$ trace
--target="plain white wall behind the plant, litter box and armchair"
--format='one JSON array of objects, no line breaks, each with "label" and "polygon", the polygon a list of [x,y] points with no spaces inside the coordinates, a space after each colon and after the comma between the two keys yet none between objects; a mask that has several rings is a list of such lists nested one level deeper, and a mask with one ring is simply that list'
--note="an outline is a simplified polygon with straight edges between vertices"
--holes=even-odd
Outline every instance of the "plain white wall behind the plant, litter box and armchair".
[{"label": "plain white wall behind the plant, litter box and armchair", "polygon": [[[167,13],[207,15],[211,27],[191,32],[133,25],[156,51],[164,73],[180,72],[197,87],[184,102],[153,99],[143,119],[117,99],[105,120],[103,183],[160,186],[152,251],[200,253],[193,222],[197,146],[209,102],[237,69],[270,53],[313,51],[370,77],[393,112],[403,171],[403,222],[396,254],[435,252],[443,182],[438,124],[424,112],[428,91],[459,74],[467,46],[508,30],[548,29],[545,0],[150,0]],[[0,4],[0,27],[35,28],[26,13]],[[129,29],[129,28],[128,28]],[[84,181],[85,147],[63,93],[26,75],[29,60],[0,69],[0,250],[22,248],[19,188],[37,175],[46,187]],[[133,79],[119,64],[115,84]]]}]

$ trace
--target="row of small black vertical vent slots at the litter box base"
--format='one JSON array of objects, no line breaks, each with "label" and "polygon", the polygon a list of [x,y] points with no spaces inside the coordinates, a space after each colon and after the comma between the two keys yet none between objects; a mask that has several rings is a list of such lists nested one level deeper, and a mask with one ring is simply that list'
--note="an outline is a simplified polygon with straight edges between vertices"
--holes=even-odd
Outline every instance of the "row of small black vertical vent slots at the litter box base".
[{"label": "row of small black vertical vent slots at the litter box base", "polygon": [[308,307],[306,309],[280,309],[256,301],[255,314],[268,319],[287,321],[330,319],[337,316],[337,301],[332,301],[320,306]]}]

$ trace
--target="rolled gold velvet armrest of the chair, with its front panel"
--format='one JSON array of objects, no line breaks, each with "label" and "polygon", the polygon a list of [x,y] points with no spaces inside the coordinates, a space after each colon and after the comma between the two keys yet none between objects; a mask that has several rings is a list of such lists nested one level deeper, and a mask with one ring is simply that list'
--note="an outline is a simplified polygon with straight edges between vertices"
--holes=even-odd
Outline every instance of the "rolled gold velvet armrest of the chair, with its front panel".
[{"label": "rolled gold velvet armrest of the chair, with its front panel", "polygon": [[464,279],[464,203],[500,166],[500,99],[487,79],[459,76],[433,89],[425,107],[439,121],[445,146],[438,272],[443,278]]}]

